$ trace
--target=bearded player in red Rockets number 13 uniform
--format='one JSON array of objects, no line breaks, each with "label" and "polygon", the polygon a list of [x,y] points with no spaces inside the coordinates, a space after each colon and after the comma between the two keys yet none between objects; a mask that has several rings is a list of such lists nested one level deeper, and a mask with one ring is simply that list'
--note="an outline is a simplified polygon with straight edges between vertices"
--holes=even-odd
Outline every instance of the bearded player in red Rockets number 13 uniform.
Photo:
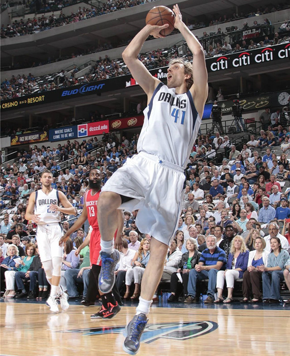
[{"label": "bearded player in red Rockets number 13 uniform", "polygon": [[[89,188],[90,190],[86,191],[84,196],[84,206],[82,215],[77,219],[74,225],[67,231],[65,235],[61,237],[59,240],[59,245],[66,242],[70,235],[78,230],[84,222],[88,219],[89,225],[92,227],[92,232],[90,238],[86,238],[85,241],[79,247],[79,251],[81,248],[85,247],[88,243],[90,246],[90,264],[91,264],[91,271],[96,281],[96,285],[98,286],[98,278],[101,271],[102,260],[100,257],[101,251],[101,234],[99,230],[99,224],[97,219],[97,204],[98,199],[101,193],[101,182],[102,182],[102,174],[99,169],[91,169],[89,171]],[[123,228],[123,213],[119,210],[118,214],[118,229],[117,234],[122,233]],[[118,247],[118,246],[117,246]],[[112,292],[110,293],[101,293],[102,298],[102,307],[100,311],[96,314],[92,314],[92,319],[103,318],[103,319],[111,319],[114,317],[119,311],[120,306],[115,299],[115,296],[118,300],[120,300],[119,292],[116,286],[114,286]]]}]

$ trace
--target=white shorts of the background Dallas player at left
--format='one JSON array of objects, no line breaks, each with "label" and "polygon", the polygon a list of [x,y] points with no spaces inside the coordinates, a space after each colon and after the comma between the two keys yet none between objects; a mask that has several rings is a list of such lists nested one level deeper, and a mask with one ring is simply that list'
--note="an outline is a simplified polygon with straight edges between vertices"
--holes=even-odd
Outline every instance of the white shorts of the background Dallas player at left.
[{"label": "white shorts of the background Dallas player at left", "polygon": [[63,247],[58,245],[61,236],[62,229],[59,224],[38,225],[36,239],[41,262],[63,256]]}]

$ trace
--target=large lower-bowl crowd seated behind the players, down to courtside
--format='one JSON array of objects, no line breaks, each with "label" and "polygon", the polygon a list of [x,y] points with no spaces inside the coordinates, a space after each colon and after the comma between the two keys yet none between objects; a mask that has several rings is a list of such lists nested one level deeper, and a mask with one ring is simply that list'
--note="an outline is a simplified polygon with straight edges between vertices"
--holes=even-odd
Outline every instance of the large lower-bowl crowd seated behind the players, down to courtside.
[{"label": "large lower-bowl crowd seated behind the players, down to courtside", "polygon": [[[278,124],[280,116],[278,122],[274,116],[272,119]],[[270,124],[271,115],[267,118],[268,122],[265,120],[265,123]],[[172,293],[169,302],[198,302],[197,281],[208,278],[205,303],[231,303],[235,280],[242,278],[246,271],[249,275],[246,273],[247,279],[243,282],[243,302],[252,300],[259,303],[263,299],[265,302],[278,303],[281,299],[280,281],[284,278],[290,288],[290,162],[287,159],[287,153],[290,152],[290,126],[282,127],[284,135],[280,137],[273,131],[277,148],[281,148],[278,151],[274,151],[271,146],[260,146],[261,137],[264,132],[269,135],[270,129],[271,126],[256,137],[251,135],[240,151],[231,144],[228,136],[222,137],[218,132],[213,136],[208,134],[197,138],[185,168],[186,187],[182,212],[162,277],[162,281],[170,282]],[[35,146],[27,152],[19,152],[12,165],[6,164],[0,181],[3,219],[0,245],[3,257],[6,257],[7,247],[12,246],[12,249],[8,248],[10,255],[6,257],[5,266],[10,263],[9,268],[21,272],[22,267],[19,269],[19,265],[13,265],[12,260],[13,256],[17,256],[17,251],[19,256],[25,256],[26,245],[29,247],[29,254],[26,254],[29,258],[26,258],[25,263],[33,256],[30,242],[35,242],[37,226],[25,220],[25,208],[29,194],[41,189],[39,173],[45,168],[51,170],[52,187],[62,191],[81,213],[83,196],[88,189],[89,170],[92,167],[100,169],[102,184],[105,184],[126,162],[127,157],[137,153],[138,138],[138,134],[131,140],[125,136],[119,139],[116,135],[109,134],[102,140],[95,137],[83,139],[81,143],[77,140],[67,141],[65,145],[53,148]],[[227,158],[219,161],[217,150],[221,150],[220,142],[224,144],[222,157]],[[90,150],[96,148],[98,152],[90,153]],[[61,169],[62,162],[68,159],[71,159],[69,165]],[[150,258],[150,236],[142,235],[138,230],[135,223],[137,214],[137,210],[124,213],[122,258],[116,272],[121,294],[125,299],[132,300],[138,299],[140,295],[142,268],[145,268]],[[65,231],[73,224],[74,219],[75,217],[61,214]],[[74,254],[74,246],[78,248],[88,230],[89,227],[84,224],[84,229],[71,235],[71,246],[66,247],[68,254]],[[83,257],[86,252],[83,252]],[[256,263],[257,260],[262,262]],[[79,260],[72,256],[72,262],[75,266],[73,269],[79,272],[80,267],[76,267]],[[81,268],[89,269],[89,261],[87,262],[88,265]],[[138,267],[135,270],[136,275],[135,272],[131,273],[133,264]],[[29,266],[27,269],[29,270]],[[221,274],[219,270],[228,272]],[[254,281],[250,278],[253,270],[257,273]],[[178,273],[182,283],[179,282]],[[67,271],[63,267],[63,288],[75,297],[77,290],[72,285],[72,275],[72,270]],[[85,276],[87,278],[87,273],[79,280],[84,282],[84,294],[87,291]],[[2,274],[3,277],[5,273]],[[222,293],[224,280],[228,288],[225,299]],[[262,294],[257,288],[257,281],[260,283],[260,280],[263,281]],[[130,287],[132,281],[135,284],[134,289]],[[21,297],[26,297],[27,294],[27,297],[30,295],[31,298],[36,298],[36,291],[27,293],[19,279],[17,286],[13,286],[11,279],[8,282],[8,298],[19,297],[21,293]],[[41,283],[43,291],[45,282]],[[154,300],[157,299],[155,295]],[[91,305],[93,302],[88,299],[83,301],[84,305]],[[288,300],[286,303],[289,302]]]}]

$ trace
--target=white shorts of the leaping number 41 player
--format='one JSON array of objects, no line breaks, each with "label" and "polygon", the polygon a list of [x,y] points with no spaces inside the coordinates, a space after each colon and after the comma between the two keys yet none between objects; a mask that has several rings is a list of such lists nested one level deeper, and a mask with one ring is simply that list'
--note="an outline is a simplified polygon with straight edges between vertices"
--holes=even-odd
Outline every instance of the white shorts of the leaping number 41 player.
[{"label": "white shorts of the leaping number 41 player", "polygon": [[136,218],[138,229],[170,244],[178,227],[184,183],[183,167],[141,152],[128,158],[117,169],[102,192],[133,198],[122,203],[119,209],[139,209]]}]

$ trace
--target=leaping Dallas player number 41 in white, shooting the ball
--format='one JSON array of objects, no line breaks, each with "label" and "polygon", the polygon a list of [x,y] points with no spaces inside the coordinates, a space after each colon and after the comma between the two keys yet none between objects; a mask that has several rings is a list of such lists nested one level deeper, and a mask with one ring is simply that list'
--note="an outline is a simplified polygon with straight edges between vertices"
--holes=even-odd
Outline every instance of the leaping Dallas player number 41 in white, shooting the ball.
[{"label": "leaping Dallas player number 41 in white, shooting the ball", "polygon": [[112,290],[114,269],[119,260],[114,250],[117,209],[139,209],[136,225],[152,236],[150,260],[141,284],[136,315],[126,327],[123,349],[135,354],[147,323],[152,297],[162,276],[168,245],[177,229],[180,201],[184,193],[185,167],[198,134],[208,95],[204,50],[182,22],[178,5],[173,7],[174,27],[184,37],[194,59],[169,63],[167,85],[151,76],[138,59],[147,37],[163,38],[168,25],[147,24],[131,41],[122,56],[134,79],[147,94],[144,124],[138,140],[139,154],[119,168],[107,181],[98,201],[102,269],[99,289]]}]

